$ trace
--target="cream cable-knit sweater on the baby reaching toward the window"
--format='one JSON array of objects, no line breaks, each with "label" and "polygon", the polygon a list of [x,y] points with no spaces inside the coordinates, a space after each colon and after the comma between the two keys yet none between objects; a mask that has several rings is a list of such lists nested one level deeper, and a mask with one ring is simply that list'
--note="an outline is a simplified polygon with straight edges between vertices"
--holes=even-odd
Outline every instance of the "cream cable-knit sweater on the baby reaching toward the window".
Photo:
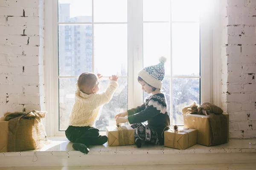
[{"label": "cream cable-knit sweater on the baby reaching toward the window", "polygon": [[85,94],[77,88],[69,125],[93,126],[99,114],[100,106],[111,100],[117,87],[118,83],[116,81],[110,81],[106,91],[101,94]]}]

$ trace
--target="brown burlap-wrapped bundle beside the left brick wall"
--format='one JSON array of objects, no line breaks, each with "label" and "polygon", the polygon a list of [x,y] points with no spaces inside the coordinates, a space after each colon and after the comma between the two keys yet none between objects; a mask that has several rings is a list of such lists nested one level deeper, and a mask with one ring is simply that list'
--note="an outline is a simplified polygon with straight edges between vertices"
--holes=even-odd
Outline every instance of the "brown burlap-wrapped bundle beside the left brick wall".
[{"label": "brown burlap-wrapped bundle beside the left brick wall", "polygon": [[34,150],[44,147],[47,136],[41,119],[44,119],[45,114],[46,112],[40,111],[4,114],[5,120],[9,121],[9,152]]}]

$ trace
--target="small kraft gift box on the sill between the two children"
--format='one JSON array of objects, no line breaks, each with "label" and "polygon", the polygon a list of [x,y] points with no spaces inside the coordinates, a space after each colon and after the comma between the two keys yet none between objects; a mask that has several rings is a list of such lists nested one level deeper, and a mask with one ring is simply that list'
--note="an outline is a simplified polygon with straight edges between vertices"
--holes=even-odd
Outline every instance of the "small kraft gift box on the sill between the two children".
[{"label": "small kraft gift box on the sill between the two children", "polygon": [[108,146],[124,146],[134,144],[134,129],[131,126],[107,126]]}]

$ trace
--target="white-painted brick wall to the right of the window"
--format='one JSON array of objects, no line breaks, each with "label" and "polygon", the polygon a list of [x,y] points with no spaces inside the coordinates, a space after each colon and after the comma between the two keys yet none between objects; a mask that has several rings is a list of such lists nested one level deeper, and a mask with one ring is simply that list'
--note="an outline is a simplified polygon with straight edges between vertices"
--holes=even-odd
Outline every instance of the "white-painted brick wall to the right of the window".
[{"label": "white-painted brick wall to the right of the window", "polygon": [[231,138],[256,138],[256,0],[222,1],[222,106]]}]

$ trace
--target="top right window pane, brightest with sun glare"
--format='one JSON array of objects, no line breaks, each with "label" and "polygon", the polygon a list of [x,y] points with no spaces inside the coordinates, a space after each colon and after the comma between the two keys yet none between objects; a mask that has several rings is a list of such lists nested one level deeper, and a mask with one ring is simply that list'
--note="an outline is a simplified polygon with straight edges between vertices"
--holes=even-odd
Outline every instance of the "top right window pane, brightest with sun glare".
[{"label": "top right window pane, brightest with sun glare", "polygon": [[172,21],[199,21],[201,0],[172,0]]}]

